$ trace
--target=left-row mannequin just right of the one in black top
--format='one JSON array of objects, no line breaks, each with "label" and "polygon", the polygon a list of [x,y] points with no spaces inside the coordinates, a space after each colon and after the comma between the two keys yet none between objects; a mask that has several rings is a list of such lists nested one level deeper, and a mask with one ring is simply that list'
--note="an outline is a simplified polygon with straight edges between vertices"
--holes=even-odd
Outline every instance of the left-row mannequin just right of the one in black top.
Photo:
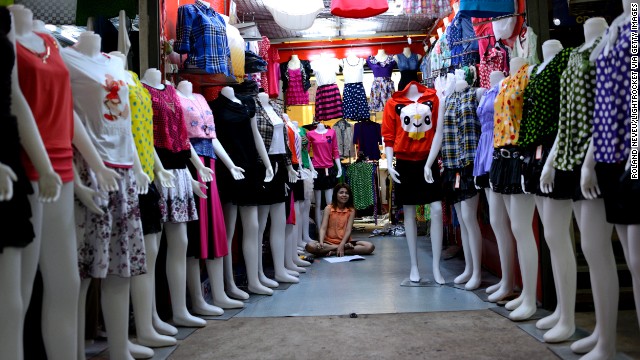
[{"label": "left-row mannequin just right of the one in black top", "polygon": [[[273,128],[273,138],[272,139],[264,139],[263,141],[265,141],[265,148],[267,146],[267,142],[270,143],[270,147],[267,149],[268,153],[269,153],[269,159],[271,162],[271,167],[273,169],[275,169],[275,174],[274,174],[274,180],[272,181],[272,183],[270,185],[273,184],[277,184],[276,181],[278,179],[278,171],[284,171],[284,169],[282,168],[282,164],[284,164],[285,162],[282,161],[278,161],[275,160],[276,157],[281,157],[281,158],[285,158],[286,156],[289,157],[289,161],[288,164],[286,165],[286,176],[284,176],[284,178],[281,176],[280,178],[283,179],[286,182],[286,178],[288,178],[289,182],[296,182],[297,180],[297,173],[295,170],[293,170],[293,167],[290,164],[290,154],[287,154],[286,151],[289,150],[287,142],[288,142],[288,135],[286,132],[286,129],[284,129],[284,126],[286,126],[286,124],[284,124],[282,118],[280,118],[280,116],[278,116],[278,114],[276,113],[276,111],[273,109],[273,107],[271,106],[271,104],[269,103],[269,95],[267,95],[266,93],[262,92],[258,94],[258,102],[259,104],[258,107],[261,107],[264,110],[264,113],[266,113],[266,117],[267,119],[264,119],[264,113],[261,113],[259,110],[256,111],[256,115],[260,115],[258,118],[258,126],[260,128],[263,128],[265,125],[266,126],[271,126]],[[270,122],[270,123],[266,123],[266,122]],[[262,124],[261,122],[265,122],[265,124]],[[278,134],[278,132],[281,132],[280,134]],[[283,137],[282,135],[284,134]],[[279,144],[277,144],[276,142],[280,142]],[[276,150],[274,150],[276,149]],[[280,166],[278,166],[280,165]],[[280,167],[280,169],[278,169],[278,167]],[[282,184],[282,189],[284,190],[284,186],[285,184]],[[273,189],[266,189],[268,191],[280,191],[278,188],[273,188]],[[284,191],[283,191],[283,195],[284,195]],[[259,243],[262,243],[261,239],[264,233],[264,230],[267,226],[267,217],[271,216],[271,225],[269,228],[270,231],[270,236],[269,236],[269,242],[271,244],[271,254],[273,256],[273,267],[275,270],[275,279],[276,281],[279,282],[290,282],[290,283],[297,283],[299,280],[295,277],[296,274],[298,274],[297,272],[293,272],[293,273],[288,273],[286,268],[285,268],[285,228],[286,228],[286,216],[285,216],[285,203],[284,200],[286,199],[286,197],[281,197],[278,199],[269,199],[266,202],[267,204],[262,204],[262,201],[259,202],[259,206],[258,206],[258,224],[259,224],[259,228],[258,228],[258,239],[260,240]],[[280,201],[282,200],[282,201]],[[260,199],[259,199],[260,201]],[[277,202],[274,202],[277,201]],[[259,258],[259,260],[261,260],[261,257]],[[258,263],[259,267],[258,267],[258,271],[259,274],[264,275],[264,273],[262,272],[262,266],[261,266],[261,262]],[[293,276],[292,276],[293,275]],[[274,285],[273,283],[269,282],[269,281],[263,281],[264,279],[266,279],[266,276],[262,277],[261,276],[261,282],[264,285]],[[275,285],[278,286],[278,285]]]}]

